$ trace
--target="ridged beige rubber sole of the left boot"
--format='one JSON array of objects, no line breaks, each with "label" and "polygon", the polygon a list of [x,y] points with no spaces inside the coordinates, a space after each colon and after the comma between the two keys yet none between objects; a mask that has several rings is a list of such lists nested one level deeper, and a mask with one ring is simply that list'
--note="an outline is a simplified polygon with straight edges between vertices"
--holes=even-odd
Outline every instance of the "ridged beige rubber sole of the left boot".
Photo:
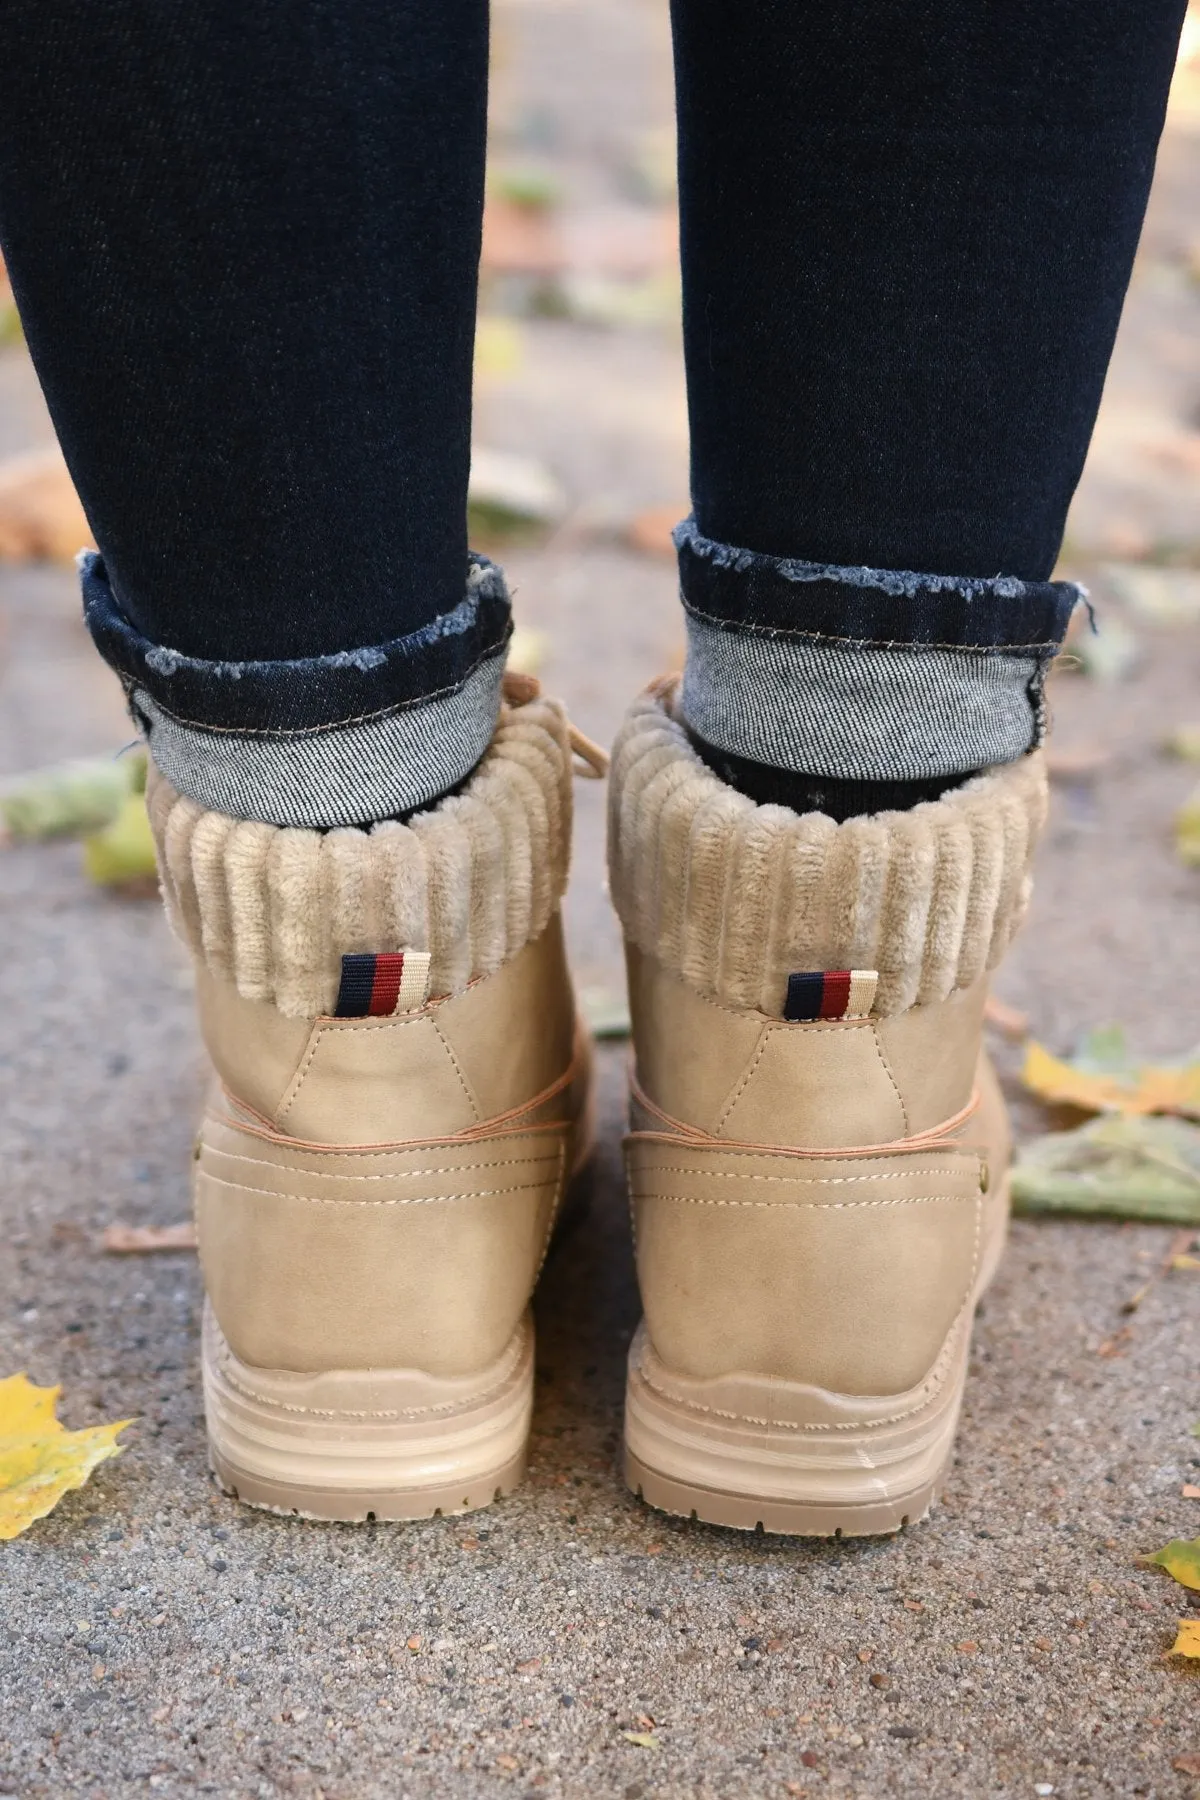
[{"label": "ridged beige rubber sole of the left boot", "polygon": [[302,1519],[432,1519],[520,1485],[533,1413],[533,1321],[489,1370],[297,1375],[241,1363],[205,1307],[209,1463],[248,1507]]}]

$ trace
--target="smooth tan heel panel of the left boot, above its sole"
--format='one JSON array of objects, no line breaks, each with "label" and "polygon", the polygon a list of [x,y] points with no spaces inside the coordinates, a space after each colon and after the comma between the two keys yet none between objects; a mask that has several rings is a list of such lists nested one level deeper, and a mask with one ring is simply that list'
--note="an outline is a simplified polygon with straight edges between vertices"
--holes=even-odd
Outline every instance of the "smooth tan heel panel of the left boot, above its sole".
[{"label": "smooth tan heel panel of the left boot, above its sole", "polygon": [[527,1307],[570,1129],[344,1150],[210,1114],[196,1229],[219,1328],[250,1366],[468,1375]]}]

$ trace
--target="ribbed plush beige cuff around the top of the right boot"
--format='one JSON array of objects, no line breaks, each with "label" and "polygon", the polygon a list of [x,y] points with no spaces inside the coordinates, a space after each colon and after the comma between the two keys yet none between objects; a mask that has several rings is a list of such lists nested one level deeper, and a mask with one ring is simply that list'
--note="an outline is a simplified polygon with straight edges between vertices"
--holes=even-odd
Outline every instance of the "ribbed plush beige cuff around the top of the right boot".
[{"label": "ribbed plush beige cuff around the top of the right boot", "polygon": [[678,680],[635,700],[610,774],[608,864],[626,936],[700,994],[783,1017],[788,976],[878,968],[876,1013],[993,968],[1029,898],[1040,752],[910,812],[835,824],[756,806],[693,751]]}]

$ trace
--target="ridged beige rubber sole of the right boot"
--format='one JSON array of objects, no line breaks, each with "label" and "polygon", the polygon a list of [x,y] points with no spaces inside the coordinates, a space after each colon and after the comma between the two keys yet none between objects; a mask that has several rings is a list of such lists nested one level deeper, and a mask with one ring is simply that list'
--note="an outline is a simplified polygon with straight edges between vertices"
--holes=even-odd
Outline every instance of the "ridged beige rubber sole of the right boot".
[{"label": "ridged beige rubber sole of the right boot", "polygon": [[[919,1388],[864,1400],[763,1379],[757,1406],[666,1370],[642,1325],[630,1346],[624,1478],[646,1505],[784,1537],[883,1537],[934,1507],[954,1456],[975,1305],[1007,1228],[1007,1181],[970,1307]],[[745,1402],[743,1402],[745,1404]],[[748,1415],[754,1417],[748,1417]],[[871,1417],[874,1415],[874,1417]]]}]

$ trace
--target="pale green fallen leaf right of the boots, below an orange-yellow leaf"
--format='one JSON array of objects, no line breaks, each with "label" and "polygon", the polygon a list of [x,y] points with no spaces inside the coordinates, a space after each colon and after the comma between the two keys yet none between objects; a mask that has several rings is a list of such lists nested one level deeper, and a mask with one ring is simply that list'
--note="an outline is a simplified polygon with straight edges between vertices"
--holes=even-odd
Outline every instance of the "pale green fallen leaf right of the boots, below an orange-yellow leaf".
[{"label": "pale green fallen leaf right of the boots, below an orange-yellow leaf", "polygon": [[1013,1206],[1200,1224],[1200,1127],[1114,1112],[1034,1138],[1013,1170]]}]

